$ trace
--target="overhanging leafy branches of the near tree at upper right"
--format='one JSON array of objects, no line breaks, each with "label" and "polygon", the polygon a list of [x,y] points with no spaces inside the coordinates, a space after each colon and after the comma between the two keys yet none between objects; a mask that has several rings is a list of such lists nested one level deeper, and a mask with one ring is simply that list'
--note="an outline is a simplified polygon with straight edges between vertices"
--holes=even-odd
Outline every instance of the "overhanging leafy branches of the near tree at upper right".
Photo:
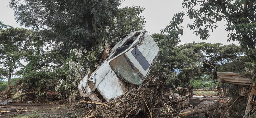
[{"label": "overhanging leafy branches of the near tree at upper right", "polygon": [[[167,33],[167,40],[171,44],[176,45],[180,42],[180,36],[183,35],[183,26],[181,23],[184,21],[184,15],[187,15],[194,22],[187,26],[190,30],[194,30],[194,35],[199,36],[200,39],[206,40],[209,35],[209,31],[213,31],[218,26],[217,22],[225,20],[226,31],[231,32],[228,34],[227,41],[238,41],[240,48],[246,52],[248,56],[252,58],[252,62],[256,60],[256,0],[218,0],[218,1],[197,1],[197,0],[182,0],[182,8],[185,10],[175,14],[172,21],[165,29],[161,31]],[[226,46],[223,49],[218,49],[219,52],[215,51],[215,54],[221,54],[226,58],[232,58],[232,54],[236,55],[237,51],[232,50],[234,46]],[[212,49],[210,49],[212,48]],[[214,47],[210,47],[210,54],[215,50]],[[234,53],[223,54],[222,51],[231,51]],[[215,56],[215,55],[214,55]],[[218,55],[217,55],[218,56]],[[214,68],[217,71],[217,65],[219,63],[226,64],[229,62],[223,57],[213,57],[207,59],[208,62],[205,64]],[[221,60],[216,59],[222,58]],[[210,63],[211,62],[211,63]],[[216,65],[216,66],[215,66]],[[255,70],[253,70],[255,71]],[[213,73],[214,75],[214,73]]]}]

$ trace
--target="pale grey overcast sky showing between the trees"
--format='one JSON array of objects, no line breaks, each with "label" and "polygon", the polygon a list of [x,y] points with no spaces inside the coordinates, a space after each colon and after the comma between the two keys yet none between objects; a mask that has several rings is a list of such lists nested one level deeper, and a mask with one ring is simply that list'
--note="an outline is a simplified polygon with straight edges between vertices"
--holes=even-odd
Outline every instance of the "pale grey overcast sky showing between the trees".
[{"label": "pale grey overcast sky showing between the trees", "polygon": [[[13,27],[22,27],[19,26],[19,23],[16,24],[14,20],[14,12],[8,7],[9,0],[1,0],[0,4],[0,21],[6,25]],[[122,2],[120,7],[125,6],[140,6],[144,8],[141,16],[144,16],[146,19],[145,29],[152,33],[160,33],[161,29],[165,28],[172,19],[172,16],[179,11],[181,11],[181,0],[126,0]],[[202,42],[199,37],[193,35],[193,31],[190,31],[187,28],[187,23],[191,23],[189,18],[185,18],[183,26],[184,35],[181,36],[181,42],[191,43],[191,42]],[[222,43],[223,45],[228,45],[234,42],[227,42],[227,34],[225,31],[225,22],[218,23],[219,28],[215,29],[214,32],[210,32],[211,37],[208,38],[205,42],[211,43]],[[237,42],[235,42],[238,44]]]}]

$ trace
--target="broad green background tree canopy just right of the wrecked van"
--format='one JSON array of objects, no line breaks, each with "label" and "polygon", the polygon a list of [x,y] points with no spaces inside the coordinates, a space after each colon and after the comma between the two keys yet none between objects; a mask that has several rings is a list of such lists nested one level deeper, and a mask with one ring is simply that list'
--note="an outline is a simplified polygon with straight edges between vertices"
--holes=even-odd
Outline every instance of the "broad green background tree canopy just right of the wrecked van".
[{"label": "broad green background tree canopy just right of the wrecked van", "polygon": [[[190,80],[195,79],[206,83],[201,87],[210,89],[215,82],[207,82],[217,79],[218,67],[226,65],[226,68],[232,69],[234,67],[229,67],[229,63],[244,63],[239,59],[242,58],[239,47],[234,44],[221,46],[220,43],[200,42],[172,47],[163,44],[166,35],[152,34],[151,36],[158,43],[161,52],[150,75],[158,76],[169,87],[180,85],[185,87],[184,85],[190,84]],[[241,68],[243,67],[241,66]],[[201,88],[197,85],[194,86]]]}]

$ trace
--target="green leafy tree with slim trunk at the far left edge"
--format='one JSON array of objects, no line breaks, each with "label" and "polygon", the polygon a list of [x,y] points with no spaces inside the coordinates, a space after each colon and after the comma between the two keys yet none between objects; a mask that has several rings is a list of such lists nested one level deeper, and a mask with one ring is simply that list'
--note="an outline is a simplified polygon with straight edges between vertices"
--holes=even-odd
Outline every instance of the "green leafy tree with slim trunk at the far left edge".
[{"label": "green leafy tree with slim trunk at the far left edge", "polygon": [[38,35],[32,30],[24,28],[8,28],[0,30],[0,64],[8,70],[8,89],[13,69],[20,64],[20,59],[30,53],[33,44],[37,42]]}]

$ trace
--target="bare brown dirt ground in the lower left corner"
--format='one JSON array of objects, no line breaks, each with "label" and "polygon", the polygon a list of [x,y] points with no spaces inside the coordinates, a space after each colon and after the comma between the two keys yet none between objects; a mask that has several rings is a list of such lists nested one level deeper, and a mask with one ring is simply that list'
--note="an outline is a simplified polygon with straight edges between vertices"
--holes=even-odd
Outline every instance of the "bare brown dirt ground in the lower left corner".
[{"label": "bare brown dirt ground in the lower left corner", "polygon": [[[9,112],[0,114],[1,118],[10,118],[10,117],[36,117],[38,114],[59,114],[66,112],[69,108],[67,104],[56,105],[51,103],[8,103],[6,105],[1,105],[0,111],[13,111],[13,109],[19,110],[33,110],[34,112]],[[11,110],[12,109],[12,110]]]}]

